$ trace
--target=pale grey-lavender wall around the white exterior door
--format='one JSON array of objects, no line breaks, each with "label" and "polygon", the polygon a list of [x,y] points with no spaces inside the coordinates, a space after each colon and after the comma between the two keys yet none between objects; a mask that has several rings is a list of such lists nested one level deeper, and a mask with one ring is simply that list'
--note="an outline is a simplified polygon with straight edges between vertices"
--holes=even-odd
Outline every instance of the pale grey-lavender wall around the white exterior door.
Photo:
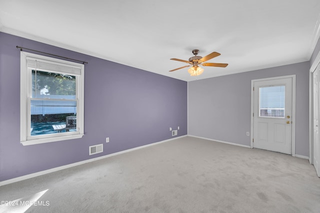
[{"label": "pale grey-lavender wall around the white exterior door", "polygon": [[188,82],[188,134],[250,145],[251,80],[296,75],[295,153],[309,156],[309,61]]}]

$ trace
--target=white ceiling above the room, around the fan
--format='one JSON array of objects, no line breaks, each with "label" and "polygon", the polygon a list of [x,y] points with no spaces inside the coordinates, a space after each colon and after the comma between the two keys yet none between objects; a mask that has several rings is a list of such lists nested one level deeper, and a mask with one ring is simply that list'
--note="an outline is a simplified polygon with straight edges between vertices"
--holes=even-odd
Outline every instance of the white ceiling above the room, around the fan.
[{"label": "white ceiling above the room, around the fan", "polygon": [[[0,31],[185,81],[307,61],[319,22],[320,0],[0,0]],[[195,48],[229,65],[168,72]]]}]

